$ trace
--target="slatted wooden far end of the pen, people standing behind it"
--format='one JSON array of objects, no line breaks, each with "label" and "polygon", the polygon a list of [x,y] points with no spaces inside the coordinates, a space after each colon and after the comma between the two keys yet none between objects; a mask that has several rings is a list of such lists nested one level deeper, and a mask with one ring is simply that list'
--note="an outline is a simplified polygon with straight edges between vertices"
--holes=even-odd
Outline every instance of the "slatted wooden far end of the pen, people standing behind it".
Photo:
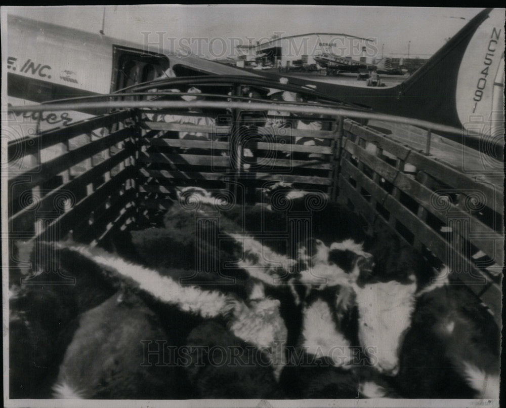
[{"label": "slatted wooden far end of the pen, people standing behind it", "polygon": [[[176,189],[184,186],[229,190],[250,202],[259,200],[260,190],[275,181],[296,182],[329,195],[336,187],[340,136],[335,118],[318,118],[328,130],[306,130],[297,128],[298,120],[311,118],[294,115],[285,128],[265,126],[274,115],[255,119],[258,123],[239,120],[238,126],[187,124],[182,123],[187,120],[184,114],[167,116],[147,109],[142,115],[137,175],[146,223],[168,208],[177,198]],[[198,137],[191,136],[195,134]]]}]

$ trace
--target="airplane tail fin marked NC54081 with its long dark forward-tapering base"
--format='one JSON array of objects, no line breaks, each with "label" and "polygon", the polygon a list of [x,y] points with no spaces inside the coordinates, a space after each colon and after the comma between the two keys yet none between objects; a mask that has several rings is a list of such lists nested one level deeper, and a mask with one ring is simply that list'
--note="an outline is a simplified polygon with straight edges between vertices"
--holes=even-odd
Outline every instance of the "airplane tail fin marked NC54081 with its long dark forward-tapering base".
[{"label": "airplane tail fin marked NC54081 with its long dark forward-tapering base", "polygon": [[[492,135],[487,143],[494,145],[494,154],[502,160],[503,75],[504,9],[484,9],[395,87],[312,84],[319,92],[343,102],[453,129],[447,135],[460,138],[465,133],[476,140],[478,135]],[[306,78],[293,77],[290,82],[310,83]]]}]

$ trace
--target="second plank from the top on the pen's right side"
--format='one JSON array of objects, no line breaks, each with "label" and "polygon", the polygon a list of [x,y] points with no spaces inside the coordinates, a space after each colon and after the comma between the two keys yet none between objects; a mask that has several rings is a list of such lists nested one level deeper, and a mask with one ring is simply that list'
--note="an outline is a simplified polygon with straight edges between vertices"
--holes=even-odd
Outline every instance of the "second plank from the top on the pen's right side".
[{"label": "second plank from the top on the pen's right side", "polygon": [[[380,176],[384,177],[389,182],[393,183],[396,188],[399,188],[401,191],[408,194],[411,198],[413,198],[419,205],[423,206],[426,210],[428,210],[431,214],[435,215],[445,224],[448,219],[451,217],[455,218],[456,216],[465,216],[469,217],[469,213],[462,211],[460,208],[454,206],[452,203],[448,203],[448,208],[443,210],[439,210],[435,205],[435,197],[434,192],[423,184],[411,179],[406,176],[402,172],[397,173],[397,171],[390,165],[386,164],[383,160],[368,154],[364,149],[355,145],[354,143],[350,143],[350,146],[347,147],[347,151],[352,152],[352,154],[359,157],[361,160],[366,161],[367,165],[374,169]],[[351,165],[346,160],[346,167],[349,172],[354,172],[356,169],[353,165]],[[358,169],[357,169],[358,171]],[[437,199],[436,199],[437,201]],[[479,238],[473,239],[473,235],[478,236],[489,236],[495,237],[496,240],[501,240],[502,235],[498,234],[494,230],[492,230],[487,225],[483,224],[480,220],[473,217],[472,222],[470,223],[470,236],[463,236],[464,238],[470,240],[473,245],[477,248],[481,249],[485,252],[490,258],[495,259],[497,263],[503,263],[504,254],[503,252],[497,253],[495,251],[495,243],[494,240],[483,240]],[[494,258],[495,257],[495,258]]]}]

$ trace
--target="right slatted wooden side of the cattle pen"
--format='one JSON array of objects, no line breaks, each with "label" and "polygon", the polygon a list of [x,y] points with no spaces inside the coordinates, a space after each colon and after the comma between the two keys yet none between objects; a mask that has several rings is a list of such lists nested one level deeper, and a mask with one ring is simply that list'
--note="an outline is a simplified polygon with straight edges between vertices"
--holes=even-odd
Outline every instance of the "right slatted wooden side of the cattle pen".
[{"label": "right slatted wooden side of the cattle pen", "polygon": [[437,157],[345,120],[339,201],[373,226],[388,224],[436,257],[499,319],[504,264],[502,186],[474,180]]}]

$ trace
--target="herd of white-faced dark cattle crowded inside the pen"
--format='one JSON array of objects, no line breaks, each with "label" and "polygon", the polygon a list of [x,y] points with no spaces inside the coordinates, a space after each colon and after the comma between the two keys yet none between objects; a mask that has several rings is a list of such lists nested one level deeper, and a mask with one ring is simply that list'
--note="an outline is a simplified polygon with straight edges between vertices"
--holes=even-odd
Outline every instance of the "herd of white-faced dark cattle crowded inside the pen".
[{"label": "herd of white-faced dark cattle crowded inside the pen", "polygon": [[187,188],[110,252],[20,247],[11,398],[498,398],[499,328],[444,266],[323,194],[265,199]]}]

